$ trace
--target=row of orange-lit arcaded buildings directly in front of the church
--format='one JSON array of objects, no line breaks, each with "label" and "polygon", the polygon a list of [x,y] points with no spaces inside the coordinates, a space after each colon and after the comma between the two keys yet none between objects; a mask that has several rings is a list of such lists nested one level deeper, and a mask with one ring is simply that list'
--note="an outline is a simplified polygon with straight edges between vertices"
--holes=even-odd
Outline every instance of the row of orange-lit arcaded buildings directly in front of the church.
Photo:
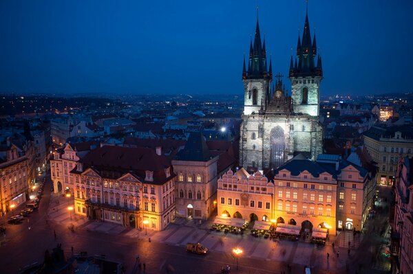
[{"label": "row of orange-lit arcaded buildings directly in front of the church", "polygon": [[313,227],[361,230],[363,188],[368,172],[337,155],[319,155],[317,161],[297,155],[268,174],[248,174],[244,168],[226,172],[218,180],[218,216],[273,220]]}]

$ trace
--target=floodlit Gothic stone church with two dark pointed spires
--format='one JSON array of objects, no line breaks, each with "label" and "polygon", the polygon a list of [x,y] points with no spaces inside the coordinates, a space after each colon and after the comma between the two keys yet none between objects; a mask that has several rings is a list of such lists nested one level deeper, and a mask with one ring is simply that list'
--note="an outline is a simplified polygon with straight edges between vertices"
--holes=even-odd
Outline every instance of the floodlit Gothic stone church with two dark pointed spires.
[{"label": "floodlit Gothic stone church with two dark pointed spires", "polygon": [[[317,59],[317,64],[316,60]],[[323,128],[319,122],[319,85],[323,79],[321,56],[310,35],[308,14],[302,41],[298,37],[297,56],[290,60],[288,94],[277,75],[275,85],[272,63],[267,67],[265,40],[257,21],[254,41],[250,43],[248,66],[242,69],[244,113],[240,128],[240,165],[245,168],[278,168],[298,152],[316,159],[322,151]]]}]

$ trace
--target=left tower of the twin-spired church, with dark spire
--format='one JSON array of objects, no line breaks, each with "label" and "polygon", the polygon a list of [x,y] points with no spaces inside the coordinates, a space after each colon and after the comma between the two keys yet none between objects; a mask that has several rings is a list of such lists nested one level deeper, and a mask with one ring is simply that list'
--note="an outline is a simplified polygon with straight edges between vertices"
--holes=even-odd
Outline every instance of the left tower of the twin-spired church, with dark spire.
[{"label": "left tower of the twin-spired church, with dark spire", "polygon": [[244,82],[244,115],[264,112],[269,98],[270,82],[272,78],[271,61],[267,69],[265,39],[261,42],[260,25],[257,19],[254,43],[250,41],[248,68],[242,68]]}]

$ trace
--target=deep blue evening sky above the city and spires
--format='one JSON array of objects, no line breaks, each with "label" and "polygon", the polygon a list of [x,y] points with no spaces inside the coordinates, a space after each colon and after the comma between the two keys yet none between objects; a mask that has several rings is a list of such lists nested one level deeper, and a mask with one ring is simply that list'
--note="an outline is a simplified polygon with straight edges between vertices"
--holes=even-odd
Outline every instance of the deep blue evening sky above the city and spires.
[{"label": "deep blue evening sky above the city and spires", "polygon": [[[256,5],[0,1],[0,92],[242,94]],[[306,3],[259,6],[273,72],[286,76]],[[310,0],[324,65],[321,95],[412,91],[412,11],[411,0]]]}]

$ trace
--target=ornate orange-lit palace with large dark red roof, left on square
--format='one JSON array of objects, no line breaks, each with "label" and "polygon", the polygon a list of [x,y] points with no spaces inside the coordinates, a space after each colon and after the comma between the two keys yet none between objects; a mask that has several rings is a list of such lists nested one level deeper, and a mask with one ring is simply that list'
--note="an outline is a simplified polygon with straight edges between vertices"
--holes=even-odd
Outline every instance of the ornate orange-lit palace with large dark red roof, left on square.
[{"label": "ornate orange-lit palace with large dark red roof, left on square", "polygon": [[175,218],[176,175],[167,157],[149,148],[118,146],[78,157],[67,145],[59,159],[54,159],[54,171],[58,165],[62,170],[54,181],[63,179],[61,191],[74,195],[75,214],[154,230],[165,229]]}]

